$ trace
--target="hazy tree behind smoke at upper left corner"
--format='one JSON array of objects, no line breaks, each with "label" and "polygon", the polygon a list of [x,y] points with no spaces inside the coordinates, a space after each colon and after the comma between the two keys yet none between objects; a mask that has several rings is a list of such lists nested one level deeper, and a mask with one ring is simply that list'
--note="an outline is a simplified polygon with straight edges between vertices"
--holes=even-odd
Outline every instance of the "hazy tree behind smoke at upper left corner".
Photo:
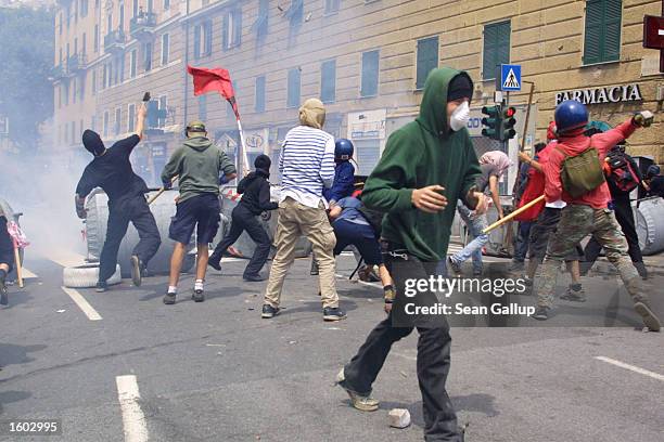
[{"label": "hazy tree behind smoke at upper left corner", "polygon": [[53,115],[54,11],[0,8],[0,115],[23,154],[37,150],[39,126]]}]

